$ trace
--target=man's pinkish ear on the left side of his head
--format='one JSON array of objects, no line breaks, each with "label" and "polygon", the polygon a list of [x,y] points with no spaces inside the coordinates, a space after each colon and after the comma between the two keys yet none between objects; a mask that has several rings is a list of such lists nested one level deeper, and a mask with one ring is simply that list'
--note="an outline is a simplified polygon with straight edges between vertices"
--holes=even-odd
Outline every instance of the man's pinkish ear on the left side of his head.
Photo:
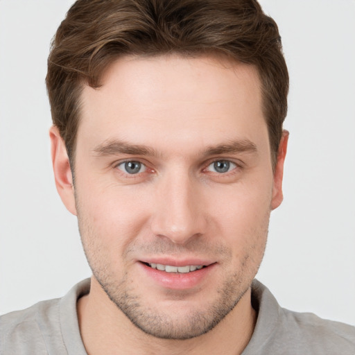
[{"label": "man's pinkish ear on the left side of his head", "polygon": [[51,138],[51,155],[55,186],[62,202],[71,214],[76,216],[76,205],[73,187],[73,176],[69,164],[67,148],[57,127],[54,125],[49,130]]}]

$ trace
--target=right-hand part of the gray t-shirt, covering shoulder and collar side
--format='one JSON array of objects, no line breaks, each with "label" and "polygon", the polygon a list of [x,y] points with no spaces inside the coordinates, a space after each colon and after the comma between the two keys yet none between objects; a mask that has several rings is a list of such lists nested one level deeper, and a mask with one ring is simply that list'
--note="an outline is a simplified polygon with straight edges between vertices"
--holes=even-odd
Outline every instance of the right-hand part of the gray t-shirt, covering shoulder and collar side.
[{"label": "right-hand part of the gray t-shirt, covering shoulder and collar side", "polygon": [[259,314],[245,354],[355,355],[355,327],[284,309],[257,280],[252,297]]}]

